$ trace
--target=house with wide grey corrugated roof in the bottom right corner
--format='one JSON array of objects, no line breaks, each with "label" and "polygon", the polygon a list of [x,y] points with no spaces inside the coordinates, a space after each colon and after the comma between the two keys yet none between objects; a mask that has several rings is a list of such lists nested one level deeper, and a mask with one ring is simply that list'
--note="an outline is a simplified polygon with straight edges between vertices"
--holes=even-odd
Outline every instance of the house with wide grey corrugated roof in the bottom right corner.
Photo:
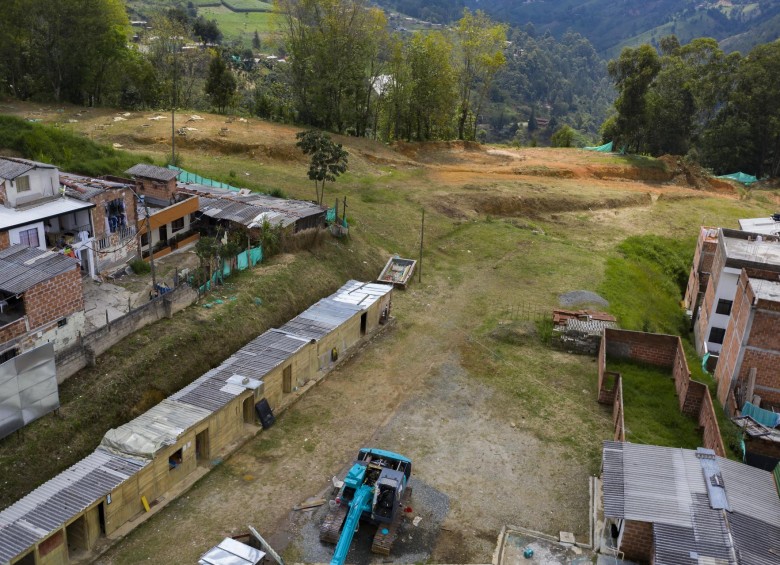
[{"label": "house with wide grey corrugated roof in the bottom right corner", "polygon": [[780,562],[772,473],[703,448],[605,441],[602,455],[602,553],[655,565]]}]

